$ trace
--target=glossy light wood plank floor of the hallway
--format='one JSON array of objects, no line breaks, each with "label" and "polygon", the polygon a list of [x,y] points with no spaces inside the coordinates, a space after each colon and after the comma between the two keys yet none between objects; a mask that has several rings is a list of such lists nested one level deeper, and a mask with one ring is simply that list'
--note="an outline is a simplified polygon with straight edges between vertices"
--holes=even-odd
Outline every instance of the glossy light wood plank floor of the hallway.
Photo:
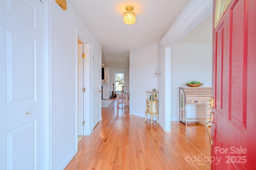
[{"label": "glossy light wood plank floor of the hallway", "polygon": [[204,126],[172,122],[171,132],[164,132],[156,122],[129,115],[129,106],[119,108],[114,100],[102,108],[102,121],[80,140],[65,170],[209,170],[208,158]]}]

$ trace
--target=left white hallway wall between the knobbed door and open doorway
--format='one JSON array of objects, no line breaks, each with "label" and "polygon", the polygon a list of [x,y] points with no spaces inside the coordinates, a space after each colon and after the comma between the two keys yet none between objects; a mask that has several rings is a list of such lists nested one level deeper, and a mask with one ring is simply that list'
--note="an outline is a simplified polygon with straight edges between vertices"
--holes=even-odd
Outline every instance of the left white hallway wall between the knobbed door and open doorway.
[{"label": "left white hallway wall between the knobbed door and open doorway", "polygon": [[76,153],[76,27],[101,53],[101,44],[71,1],[63,11],[51,2],[52,170],[64,169]]}]

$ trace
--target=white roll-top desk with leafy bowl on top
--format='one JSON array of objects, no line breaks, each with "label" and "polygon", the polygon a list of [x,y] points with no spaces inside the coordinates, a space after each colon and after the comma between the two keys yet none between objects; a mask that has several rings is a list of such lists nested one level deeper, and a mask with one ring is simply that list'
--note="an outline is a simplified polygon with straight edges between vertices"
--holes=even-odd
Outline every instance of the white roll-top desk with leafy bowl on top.
[{"label": "white roll-top desk with leafy bowl on top", "polygon": [[[179,110],[180,110],[180,122],[187,126],[187,122],[199,122],[205,125],[210,120],[211,107],[209,100],[212,96],[211,87],[180,87],[180,99],[179,99]],[[187,118],[186,105],[187,104],[204,104],[204,116],[198,118],[198,112],[196,118]]]}]

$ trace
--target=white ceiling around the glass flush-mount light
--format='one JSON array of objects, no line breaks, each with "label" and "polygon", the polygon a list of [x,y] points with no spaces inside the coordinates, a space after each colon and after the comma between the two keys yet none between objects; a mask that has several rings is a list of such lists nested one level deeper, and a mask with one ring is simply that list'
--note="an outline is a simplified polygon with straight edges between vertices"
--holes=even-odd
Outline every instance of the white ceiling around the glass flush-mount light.
[{"label": "white ceiling around the glass flush-mount light", "polygon": [[[72,0],[72,2],[102,44],[102,64],[110,67],[129,67],[130,49],[160,42],[191,0]],[[133,11],[136,13],[136,23],[133,25],[123,23],[123,13],[128,5],[134,6]],[[207,28],[196,27],[188,38],[183,38],[180,42],[189,42],[195,38],[199,38],[198,42],[209,41],[206,40],[206,34],[208,35],[212,29],[210,17],[212,16],[200,24]],[[211,35],[210,32],[210,37]]]}]

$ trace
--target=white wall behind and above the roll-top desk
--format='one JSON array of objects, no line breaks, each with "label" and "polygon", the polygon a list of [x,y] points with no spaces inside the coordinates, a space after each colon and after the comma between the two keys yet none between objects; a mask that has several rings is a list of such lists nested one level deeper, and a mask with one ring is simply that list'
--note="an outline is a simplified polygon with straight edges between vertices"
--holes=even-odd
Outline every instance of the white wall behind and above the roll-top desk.
[{"label": "white wall behind and above the roll-top desk", "polygon": [[[212,43],[177,43],[171,51],[171,120],[179,121],[179,87],[196,80],[212,86]],[[191,106],[191,110],[196,110]],[[194,111],[196,112],[196,111]]]}]

